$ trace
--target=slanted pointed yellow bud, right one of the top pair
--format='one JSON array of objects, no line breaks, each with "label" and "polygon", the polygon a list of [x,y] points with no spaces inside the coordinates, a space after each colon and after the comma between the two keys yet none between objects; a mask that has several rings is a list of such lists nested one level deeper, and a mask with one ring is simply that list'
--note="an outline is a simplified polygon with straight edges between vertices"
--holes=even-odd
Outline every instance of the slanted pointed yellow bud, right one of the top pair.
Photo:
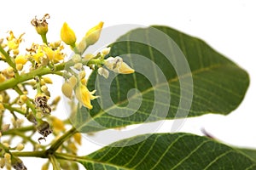
[{"label": "slanted pointed yellow bud, right one of the top pair", "polygon": [[92,45],[98,41],[101,35],[103,22],[100,22],[97,26],[90,28],[85,35],[87,45]]}]

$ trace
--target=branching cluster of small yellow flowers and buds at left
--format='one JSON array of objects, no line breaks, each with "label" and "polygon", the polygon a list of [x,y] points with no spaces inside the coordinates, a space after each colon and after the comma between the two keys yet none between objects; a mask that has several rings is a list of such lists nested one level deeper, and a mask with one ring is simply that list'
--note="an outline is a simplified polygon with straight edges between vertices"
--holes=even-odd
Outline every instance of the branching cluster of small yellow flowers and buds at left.
[{"label": "branching cluster of small yellow flowers and buds at left", "polygon": [[[122,58],[110,56],[110,47],[103,48],[97,54],[85,53],[90,45],[99,40],[103,22],[99,22],[87,31],[79,42],[75,32],[67,23],[64,23],[61,27],[61,40],[48,42],[47,20],[49,20],[49,14],[45,14],[42,19],[37,17],[32,19],[31,24],[41,36],[43,43],[33,42],[23,51],[20,50],[20,44],[25,37],[24,33],[17,37],[13,31],[9,31],[6,38],[0,38],[0,62],[3,63],[0,70],[0,124],[2,125],[0,139],[2,136],[10,135],[8,141],[0,142],[1,168],[5,166],[7,169],[11,167],[17,170],[26,169],[13,150],[23,150],[26,143],[31,143],[34,150],[45,150],[45,146],[40,142],[41,139],[46,140],[50,134],[54,135],[55,139],[51,142],[53,144],[61,134],[65,133],[66,125],[70,125],[68,120],[61,120],[54,116],[53,111],[61,98],[60,96],[53,98],[49,86],[55,82],[46,75],[64,77],[62,93],[68,99],[77,99],[79,105],[91,110],[93,109],[91,100],[100,96],[96,96],[96,90],[90,91],[87,88],[85,67],[95,70],[105,78],[108,78],[109,71],[119,74],[134,72]],[[69,46],[73,52],[71,59],[67,59],[66,46]],[[14,90],[15,94],[10,95],[9,90]],[[11,116],[12,123],[3,123],[5,116]],[[29,123],[29,126],[22,127],[25,124],[23,122]],[[27,135],[27,132],[31,134]],[[32,139],[32,135],[36,132],[42,135],[38,141]],[[13,136],[23,139],[24,144],[11,147]],[[67,139],[58,150],[76,154],[80,144],[81,134],[75,133],[73,138]],[[60,162],[65,165],[67,163]],[[49,162],[43,168],[48,166]],[[70,163],[68,166],[72,169],[77,164]]]}]

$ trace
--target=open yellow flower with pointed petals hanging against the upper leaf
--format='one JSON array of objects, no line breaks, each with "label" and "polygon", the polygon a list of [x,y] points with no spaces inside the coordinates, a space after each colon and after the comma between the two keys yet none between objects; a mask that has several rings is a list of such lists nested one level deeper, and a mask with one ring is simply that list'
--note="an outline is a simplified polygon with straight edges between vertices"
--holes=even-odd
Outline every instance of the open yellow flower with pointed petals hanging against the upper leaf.
[{"label": "open yellow flower with pointed petals hanging against the upper leaf", "polygon": [[75,90],[75,94],[79,102],[81,102],[84,105],[84,107],[87,107],[88,109],[92,109],[90,100],[97,98],[97,96],[93,95],[95,94],[95,92],[96,91],[90,92],[88,88],[83,84],[80,84],[79,87]]}]

